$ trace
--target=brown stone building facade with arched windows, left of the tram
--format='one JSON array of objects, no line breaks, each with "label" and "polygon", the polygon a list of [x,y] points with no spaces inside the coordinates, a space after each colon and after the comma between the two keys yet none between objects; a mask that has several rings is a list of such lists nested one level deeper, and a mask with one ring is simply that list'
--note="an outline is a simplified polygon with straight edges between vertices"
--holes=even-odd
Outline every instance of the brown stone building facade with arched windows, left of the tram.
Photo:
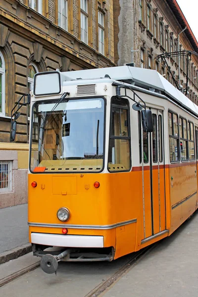
[{"label": "brown stone building facade with arched windows, left of the tram", "polygon": [[27,202],[29,109],[10,114],[37,72],[114,64],[113,0],[1,0],[0,208]]}]

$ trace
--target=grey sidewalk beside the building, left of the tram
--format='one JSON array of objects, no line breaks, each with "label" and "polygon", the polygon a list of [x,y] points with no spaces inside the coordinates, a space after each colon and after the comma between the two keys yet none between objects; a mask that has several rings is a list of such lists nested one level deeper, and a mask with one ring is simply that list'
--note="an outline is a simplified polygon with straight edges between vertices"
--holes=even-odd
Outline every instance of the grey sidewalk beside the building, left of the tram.
[{"label": "grey sidewalk beside the building, left of the tram", "polygon": [[[0,209],[0,263],[31,250],[28,239],[27,204]],[[12,251],[13,255],[10,255]],[[7,261],[6,260],[6,261]]]}]

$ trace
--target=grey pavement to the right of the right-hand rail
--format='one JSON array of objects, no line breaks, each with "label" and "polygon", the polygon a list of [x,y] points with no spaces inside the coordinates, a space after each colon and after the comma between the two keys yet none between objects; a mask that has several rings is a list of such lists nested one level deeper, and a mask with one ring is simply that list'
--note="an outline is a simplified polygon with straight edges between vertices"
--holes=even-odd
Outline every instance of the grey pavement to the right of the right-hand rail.
[{"label": "grey pavement to the right of the right-hand rail", "polygon": [[197,297],[198,211],[103,297]]}]

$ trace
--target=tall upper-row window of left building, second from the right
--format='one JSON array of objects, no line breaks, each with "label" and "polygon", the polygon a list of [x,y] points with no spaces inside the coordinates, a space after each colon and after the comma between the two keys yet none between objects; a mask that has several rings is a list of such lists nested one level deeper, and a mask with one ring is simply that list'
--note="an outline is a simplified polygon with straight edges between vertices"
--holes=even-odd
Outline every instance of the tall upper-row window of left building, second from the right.
[{"label": "tall upper-row window of left building, second from the right", "polygon": [[81,0],[81,40],[88,44],[88,0]]}]

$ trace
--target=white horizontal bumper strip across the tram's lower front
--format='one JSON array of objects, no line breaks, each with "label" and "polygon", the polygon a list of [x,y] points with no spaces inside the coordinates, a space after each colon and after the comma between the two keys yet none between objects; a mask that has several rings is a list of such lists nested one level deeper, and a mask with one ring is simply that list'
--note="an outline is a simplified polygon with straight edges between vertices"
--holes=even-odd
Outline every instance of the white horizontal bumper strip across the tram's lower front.
[{"label": "white horizontal bumper strip across the tram's lower front", "polygon": [[53,247],[104,247],[103,236],[32,233],[31,242]]}]

